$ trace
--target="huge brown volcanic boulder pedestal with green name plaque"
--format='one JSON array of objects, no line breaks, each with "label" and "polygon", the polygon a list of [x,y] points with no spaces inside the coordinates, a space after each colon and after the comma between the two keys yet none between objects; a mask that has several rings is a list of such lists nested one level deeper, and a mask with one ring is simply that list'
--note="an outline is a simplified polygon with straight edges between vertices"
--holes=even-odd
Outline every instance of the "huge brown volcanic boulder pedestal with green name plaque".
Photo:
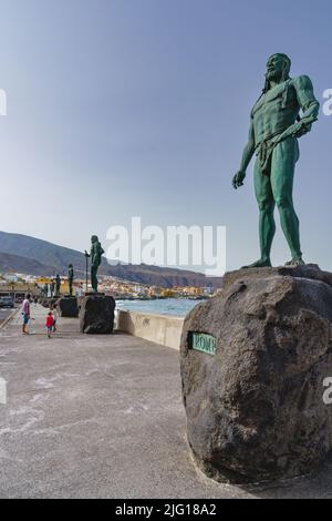
[{"label": "huge brown volcanic boulder pedestal with green name plaque", "polygon": [[325,459],[331,326],[332,274],[315,265],[229,273],[224,290],[193,309],[181,380],[204,472],[246,483],[301,476]]}]

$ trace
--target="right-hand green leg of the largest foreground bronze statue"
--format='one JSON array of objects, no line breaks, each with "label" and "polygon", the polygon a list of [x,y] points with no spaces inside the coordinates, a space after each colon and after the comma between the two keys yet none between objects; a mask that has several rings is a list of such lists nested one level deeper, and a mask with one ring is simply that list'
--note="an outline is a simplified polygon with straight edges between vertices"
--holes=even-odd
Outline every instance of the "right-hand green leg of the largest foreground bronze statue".
[{"label": "right-hand green leg of the largest foreground bronze statue", "polygon": [[293,177],[299,159],[298,141],[290,137],[273,150],[271,186],[277,203],[283,234],[291,251],[290,265],[304,264],[300,246],[299,219],[293,207]]}]

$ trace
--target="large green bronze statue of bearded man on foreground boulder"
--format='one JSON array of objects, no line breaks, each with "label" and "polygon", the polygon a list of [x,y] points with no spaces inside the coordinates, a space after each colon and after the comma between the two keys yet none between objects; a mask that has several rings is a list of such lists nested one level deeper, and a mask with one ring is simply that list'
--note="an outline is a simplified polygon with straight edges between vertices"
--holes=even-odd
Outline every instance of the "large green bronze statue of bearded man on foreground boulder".
[{"label": "large green bronze statue of bearded man on foreground boulder", "polygon": [[[290,266],[304,264],[300,246],[299,219],[293,207],[293,177],[299,160],[298,137],[310,132],[320,104],[310,78],[290,78],[291,60],[273,54],[267,64],[266,85],[251,112],[249,141],[232,185],[243,185],[247,167],[256,152],[255,192],[259,206],[260,259],[246,267],[271,266],[270,252],[276,233],[277,204],[288,242]],[[300,118],[300,111],[302,116]]]}]

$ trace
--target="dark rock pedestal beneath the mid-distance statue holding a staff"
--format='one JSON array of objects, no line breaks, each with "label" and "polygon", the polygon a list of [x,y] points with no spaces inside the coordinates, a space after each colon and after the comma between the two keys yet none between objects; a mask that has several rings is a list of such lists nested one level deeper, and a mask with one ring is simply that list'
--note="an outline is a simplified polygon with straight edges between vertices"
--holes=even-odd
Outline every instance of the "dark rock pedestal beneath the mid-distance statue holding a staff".
[{"label": "dark rock pedestal beneath the mid-distance statue holding a staff", "polygon": [[103,294],[87,294],[81,299],[80,330],[108,335],[114,328],[115,300]]}]

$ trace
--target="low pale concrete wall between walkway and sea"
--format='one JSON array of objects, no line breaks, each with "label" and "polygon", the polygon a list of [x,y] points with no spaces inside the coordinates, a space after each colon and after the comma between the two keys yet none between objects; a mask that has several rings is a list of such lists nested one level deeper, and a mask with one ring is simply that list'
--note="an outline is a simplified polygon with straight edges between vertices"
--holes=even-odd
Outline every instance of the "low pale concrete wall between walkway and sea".
[{"label": "low pale concrete wall between walkway and sea", "polygon": [[117,310],[117,329],[162,346],[179,349],[184,318]]}]

